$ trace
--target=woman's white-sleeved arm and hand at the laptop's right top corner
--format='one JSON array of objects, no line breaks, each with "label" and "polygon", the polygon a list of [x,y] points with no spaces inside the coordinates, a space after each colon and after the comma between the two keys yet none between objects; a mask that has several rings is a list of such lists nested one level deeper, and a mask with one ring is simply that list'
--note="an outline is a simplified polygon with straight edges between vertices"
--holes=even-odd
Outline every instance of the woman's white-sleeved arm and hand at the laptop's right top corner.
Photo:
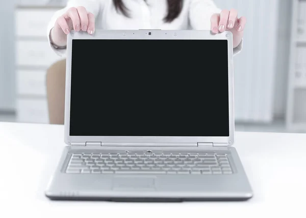
[{"label": "woman's white-sleeved arm and hand at the laptop's right top corner", "polygon": [[211,29],[214,34],[225,30],[231,31],[234,54],[242,50],[246,20],[245,17],[238,19],[236,10],[221,10],[212,0],[190,0],[189,20],[193,29]]}]

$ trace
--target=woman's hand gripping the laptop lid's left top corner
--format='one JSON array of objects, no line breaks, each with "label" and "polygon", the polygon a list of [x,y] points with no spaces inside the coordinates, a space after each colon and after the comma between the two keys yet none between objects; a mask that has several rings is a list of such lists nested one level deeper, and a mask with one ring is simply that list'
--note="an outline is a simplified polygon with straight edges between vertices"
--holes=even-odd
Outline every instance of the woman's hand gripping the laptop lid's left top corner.
[{"label": "woman's hand gripping the laptop lid's left top corner", "polygon": [[50,40],[57,46],[67,45],[67,35],[70,30],[86,31],[90,35],[94,33],[95,20],[92,13],[80,6],[77,8],[69,8],[62,16],[60,16],[50,32]]}]

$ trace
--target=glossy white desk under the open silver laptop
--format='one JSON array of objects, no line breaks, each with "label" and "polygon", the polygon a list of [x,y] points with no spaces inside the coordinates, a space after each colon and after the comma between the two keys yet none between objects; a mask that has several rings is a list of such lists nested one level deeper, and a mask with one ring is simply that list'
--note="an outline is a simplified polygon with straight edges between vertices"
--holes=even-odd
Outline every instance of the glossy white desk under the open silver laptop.
[{"label": "glossy white desk under the open silver laptop", "polygon": [[63,138],[63,126],[0,122],[0,211],[8,213],[3,217],[305,217],[306,134],[237,132],[234,146],[254,197],[196,203],[50,201],[44,190],[65,146]]}]

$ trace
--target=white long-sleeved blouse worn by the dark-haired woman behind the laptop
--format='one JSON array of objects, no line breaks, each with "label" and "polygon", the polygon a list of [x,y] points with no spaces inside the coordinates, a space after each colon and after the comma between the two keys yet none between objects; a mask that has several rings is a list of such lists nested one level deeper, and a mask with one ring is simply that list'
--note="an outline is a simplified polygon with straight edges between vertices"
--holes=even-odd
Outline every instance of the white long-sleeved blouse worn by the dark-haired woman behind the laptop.
[{"label": "white long-sleeved blouse worn by the dark-haired woman behind the laptop", "polygon": [[[117,13],[113,0],[70,0],[67,6],[55,13],[47,27],[49,40],[50,30],[54,27],[57,18],[63,15],[68,8],[84,6],[95,16],[95,29],[211,29],[211,16],[220,13],[213,0],[184,0],[180,15],[170,23],[163,21],[167,15],[166,0],[122,0],[129,9],[131,17]],[[50,43],[50,42],[49,42]],[[52,49],[64,56],[65,49]],[[234,54],[242,49],[242,42],[234,48]]]}]

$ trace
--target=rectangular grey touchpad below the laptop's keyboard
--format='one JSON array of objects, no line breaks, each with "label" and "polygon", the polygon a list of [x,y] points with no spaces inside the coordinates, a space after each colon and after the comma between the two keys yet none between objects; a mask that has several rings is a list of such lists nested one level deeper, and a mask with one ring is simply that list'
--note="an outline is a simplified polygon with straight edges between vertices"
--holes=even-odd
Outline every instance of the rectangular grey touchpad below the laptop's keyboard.
[{"label": "rectangular grey touchpad below the laptop's keyboard", "polygon": [[116,176],[113,180],[115,190],[155,190],[156,177]]}]

